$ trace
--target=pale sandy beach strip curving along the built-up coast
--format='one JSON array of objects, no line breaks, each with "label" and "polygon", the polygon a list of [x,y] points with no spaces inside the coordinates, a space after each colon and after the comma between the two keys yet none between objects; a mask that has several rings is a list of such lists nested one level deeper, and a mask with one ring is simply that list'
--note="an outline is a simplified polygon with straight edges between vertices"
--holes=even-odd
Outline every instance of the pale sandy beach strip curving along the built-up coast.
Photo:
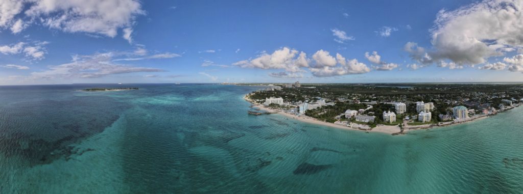
[{"label": "pale sandy beach strip curving along the built-up coast", "polygon": [[[488,118],[490,116],[493,116],[493,115],[485,115],[485,116],[480,116],[480,117],[472,118],[472,119],[469,119],[469,120],[465,120],[465,121],[459,122],[459,123],[451,122],[451,123],[443,125],[443,126],[439,126],[437,124],[427,124],[427,125],[419,125],[419,126],[408,127],[408,124],[407,124],[406,126],[403,127],[403,132],[401,132],[400,127],[397,126],[397,125],[396,126],[378,125],[377,127],[374,127],[372,129],[361,129],[362,126],[366,126],[366,125],[360,125],[360,124],[353,123],[349,127],[349,126],[338,125],[338,124],[334,124],[334,123],[323,122],[321,120],[317,120],[315,118],[312,118],[312,117],[309,117],[309,116],[305,116],[305,115],[297,116],[297,115],[292,115],[292,114],[283,112],[281,110],[273,110],[271,108],[264,107],[261,104],[252,102],[250,99],[247,98],[247,95],[248,94],[244,95],[243,99],[245,101],[251,103],[252,104],[251,107],[253,107],[253,108],[256,107],[256,108],[259,108],[260,110],[263,110],[263,111],[266,111],[266,112],[276,112],[277,114],[280,114],[280,115],[283,115],[283,116],[286,116],[286,117],[290,117],[290,118],[293,118],[293,119],[296,119],[296,120],[300,120],[301,122],[310,123],[310,124],[316,124],[316,125],[322,125],[322,126],[328,126],[328,127],[334,127],[334,128],[338,128],[338,129],[355,130],[355,131],[362,131],[362,132],[379,132],[379,133],[382,133],[382,134],[390,134],[390,135],[406,135],[406,134],[408,134],[409,131],[416,131],[416,130],[423,130],[423,129],[437,129],[437,128],[441,128],[441,127],[460,125],[460,124],[470,123],[470,122],[473,122],[473,121],[476,121],[476,120],[482,120],[482,119]],[[513,107],[513,108],[515,108],[515,107]],[[512,110],[513,108],[510,108],[508,110]],[[505,110],[505,111],[508,111],[508,110]],[[503,111],[503,112],[505,112],[505,111]],[[503,113],[503,112],[498,112],[497,114]],[[405,124],[405,122],[403,124]],[[355,125],[356,125],[357,128],[354,128]]]}]

